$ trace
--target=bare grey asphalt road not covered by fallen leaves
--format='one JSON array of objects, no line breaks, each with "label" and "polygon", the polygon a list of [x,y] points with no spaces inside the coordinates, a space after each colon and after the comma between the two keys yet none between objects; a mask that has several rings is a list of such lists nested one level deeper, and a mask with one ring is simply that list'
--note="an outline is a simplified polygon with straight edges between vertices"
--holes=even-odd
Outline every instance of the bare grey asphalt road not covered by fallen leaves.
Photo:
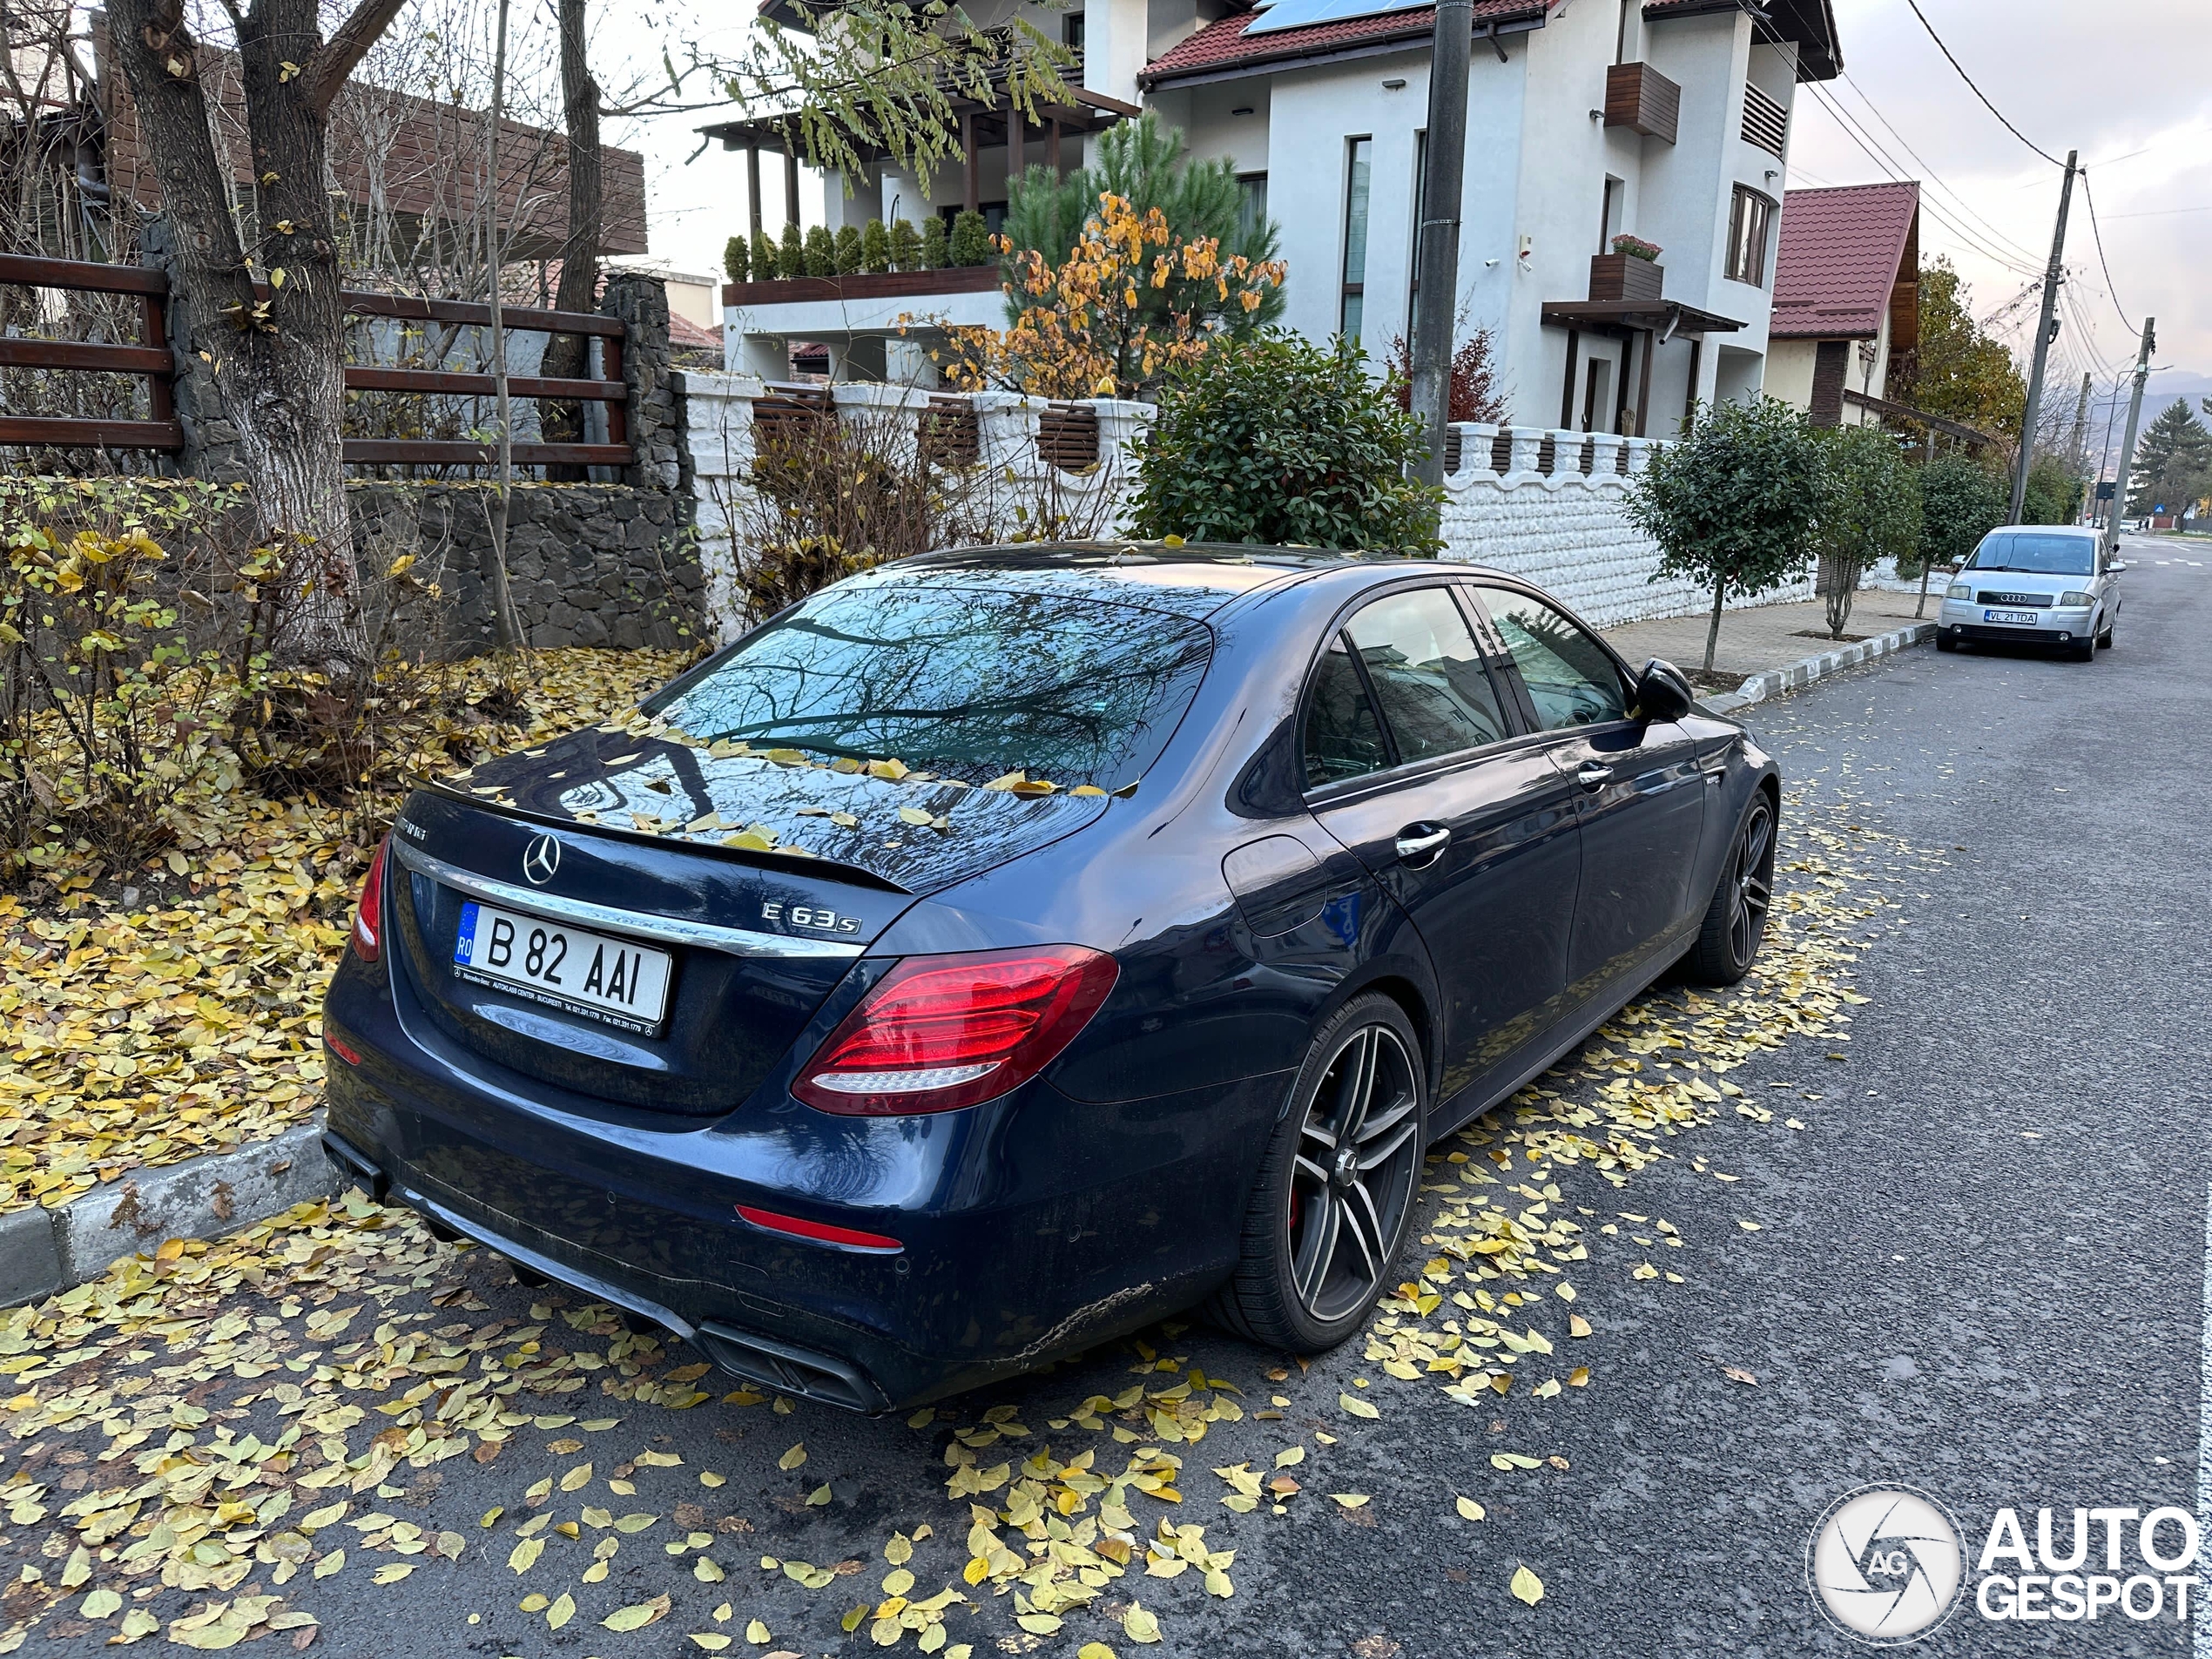
[{"label": "bare grey asphalt road not covered by fallen leaves", "polygon": [[[1962,1606],[1918,1652],[2192,1652],[2170,1601],[2146,1621],[2104,1608],[2095,1621],[1997,1624],[1973,1606],[2000,1506],[2022,1513],[2031,1548],[2042,1506],[2059,1511],[2059,1546],[2075,1506],[2199,1509],[2212,557],[2161,566],[2172,546],[2130,551],[2119,646],[2090,666],[1922,648],[1752,710],[1792,785],[1792,845],[1812,845],[1851,891],[1889,900],[1832,940],[1867,1002],[1851,1009],[1847,1040],[1790,1037],[1728,1073],[1774,1108],[1772,1121],[1721,1113],[1668,1141],[1672,1157],[1621,1192],[1588,1168],[1557,1177],[1562,1212],[1599,1212],[1588,1228],[1637,1217],[1617,1223],[1621,1234],[1593,1232],[1590,1261],[1573,1270],[1593,1334],[1559,1340],[1571,1349],[1559,1358],[1588,1365],[1588,1387],[1469,1409],[1433,1380],[1385,1378],[1356,1345],[1270,1383],[1276,1356],[1206,1327],[1155,1332],[1172,1360],[1243,1389],[1241,1422],[1172,1447],[1186,1460],[1172,1517],[1237,1551],[1234,1595],[1210,1597],[1188,1573],[1117,1579],[1102,1599],[1119,1608],[1135,1597],[1161,1624],[1161,1644],[1139,1648],[1097,1608],[1068,1613],[1060,1632],[1024,1635],[1011,1599],[987,1584],[969,1590],[973,1610],[947,1615],[951,1641],[978,1655],[1073,1655],[1104,1641],[1121,1659],[1851,1652],[1807,1590],[1807,1540],[1851,1489],[1909,1484],[1949,1509],[1969,1555]],[[1805,830],[1818,832],[1814,843]],[[1723,1186],[1717,1172],[1739,1179]],[[1681,1245],[1637,1232],[1644,1217],[1668,1219]],[[1637,1279],[1641,1261],[1681,1283]],[[476,1252],[465,1274],[493,1310],[473,1318],[526,1318],[533,1292],[498,1263]],[[1544,1305],[1555,1336],[1559,1314]],[[1040,1444],[1060,1458],[1097,1447],[1113,1473],[1130,1442],[1048,1422],[1137,1380],[1177,1378],[1121,1343],[962,1402],[960,1420],[1011,1405],[1031,1429],[982,1462]],[[1360,1380],[1371,1383],[1363,1398],[1380,1409],[1374,1420],[1338,1405]],[[1281,1420],[1259,1418],[1276,1391]],[[719,1400],[602,1407],[591,1394],[544,1402],[599,1409],[624,1422],[591,1436],[593,1449],[551,1453],[555,1431],[522,1429],[513,1455],[489,1467],[456,1458],[440,1464],[436,1491],[389,1504],[465,1531],[471,1548],[458,1564],[434,1562],[394,1586],[374,1586],[367,1559],[294,1582],[294,1604],[323,1621],[316,1650],[613,1659],[697,1652],[688,1632],[728,1632],[732,1652],[869,1652],[867,1626],[843,1635],[838,1615],[883,1595],[885,1540],[918,1524],[933,1537],[916,1546],[914,1595],[967,1590],[969,1509],[945,1491],[942,1420],[914,1429]],[[783,1471],[779,1453],[794,1442],[807,1460]],[[1272,1473],[1292,1442],[1307,1458],[1292,1471],[1303,1493],[1283,1513],[1219,1506],[1228,1486],[1210,1467],[1250,1460]],[[615,1444],[684,1460],[637,1469],[635,1502],[659,1513],[703,1502],[706,1553],[726,1582],[697,1582],[688,1555],[655,1542],[670,1537],[668,1522],[626,1540],[599,1584],[577,1582],[588,1531],[580,1544],[555,1542],[571,1553],[560,1571],[553,1553],[526,1575],[509,1571],[524,1484],[595,1453],[604,1480]],[[1498,1451],[1566,1469],[1500,1471]],[[701,1491],[701,1469],[728,1484]],[[830,1502],[805,1504],[823,1482]],[[553,1513],[615,1502],[597,1491],[562,1498]],[[1367,1502],[1345,1509],[1327,1493]],[[1486,1517],[1462,1520],[1455,1495]],[[493,1504],[511,1513],[487,1533],[476,1522]],[[1146,1531],[1159,1513],[1168,1506],[1144,1504]],[[717,1528],[721,1515],[750,1531]],[[2143,1573],[2135,1528],[2119,1542],[2119,1577]],[[2172,1535],[2163,1548],[2177,1548]],[[2099,1551],[2101,1535],[2084,1571],[2097,1571]],[[761,1571],[761,1555],[865,1568],[807,1590]],[[0,1573],[13,1575],[13,1557],[0,1551]],[[1509,1593],[1520,1566],[1544,1584],[1535,1606]],[[531,1590],[564,1588],[584,1613],[562,1630],[518,1608]],[[597,1624],[657,1593],[675,1610],[653,1628]],[[714,1624],[719,1604],[732,1617]],[[159,1610],[184,1606],[166,1595]],[[772,1641],[748,1644],[750,1619]],[[91,1652],[97,1641],[35,1632],[27,1650]]]}]

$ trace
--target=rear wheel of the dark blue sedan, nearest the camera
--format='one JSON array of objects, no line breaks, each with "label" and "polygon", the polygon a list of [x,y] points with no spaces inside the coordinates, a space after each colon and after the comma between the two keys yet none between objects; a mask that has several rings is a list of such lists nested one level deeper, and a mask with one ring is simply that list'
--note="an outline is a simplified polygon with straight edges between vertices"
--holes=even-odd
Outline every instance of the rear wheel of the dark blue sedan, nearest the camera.
[{"label": "rear wheel of the dark blue sedan, nearest the camera", "polygon": [[1405,1009],[1369,993],[1329,1015],[1252,1183],[1237,1272],[1208,1316],[1292,1354],[1323,1354],[1358,1332],[1413,1225],[1427,1121],[1429,1073]]}]

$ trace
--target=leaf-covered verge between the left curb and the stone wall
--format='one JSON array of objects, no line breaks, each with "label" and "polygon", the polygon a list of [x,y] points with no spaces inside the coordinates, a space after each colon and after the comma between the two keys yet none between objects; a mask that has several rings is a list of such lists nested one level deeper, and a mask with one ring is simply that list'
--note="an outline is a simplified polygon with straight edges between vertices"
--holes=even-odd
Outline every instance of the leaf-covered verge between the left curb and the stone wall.
[{"label": "leaf-covered verge between the left curb and the stone wall", "polygon": [[[471,763],[626,710],[684,657],[544,650],[526,719],[476,717],[491,668],[449,670],[451,714],[414,757]],[[0,1210],[66,1203],[148,1164],[265,1139],[323,1093],[323,984],[367,847],[352,810],[201,790],[133,885],[0,894]]]}]

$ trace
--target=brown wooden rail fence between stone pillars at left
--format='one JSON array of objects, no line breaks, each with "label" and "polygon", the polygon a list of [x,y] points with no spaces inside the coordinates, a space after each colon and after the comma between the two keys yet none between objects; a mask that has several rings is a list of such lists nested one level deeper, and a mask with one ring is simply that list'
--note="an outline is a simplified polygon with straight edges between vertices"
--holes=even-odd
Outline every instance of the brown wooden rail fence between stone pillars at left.
[{"label": "brown wooden rail fence between stone pillars at left", "polygon": [[[88,374],[142,374],[148,385],[150,420],[86,420],[77,416],[0,416],[0,445],[42,449],[184,449],[184,427],[175,414],[177,365],[166,345],[168,276],[137,265],[97,265],[69,259],[29,259],[0,254],[0,283],[24,288],[60,288],[80,294],[137,294],[139,338],[135,345],[102,345],[82,341],[0,338],[0,367],[73,369]],[[265,292],[265,290],[263,290]],[[489,305],[451,299],[409,299],[403,294],[345,292],[349,316],[396,316],[425,323],[491,325]],[[622,374],[624,327],[599,312],[540,312],[502,307],[509,330],[535,334],[586,334],[599,338],[599,376],[595,378],[526,378],[509,376],[511,398],[562,398],[606,405],[606,442],[518,442],[511,447],[518,467],[630,467],[628,400]],[[491,374],[451,374],[445,369],[345,367],[347,392],[409,392],[416,396],[498,396]],[[491,467],[498,445],[456,438],[347,438],[345,460],[354,465],[416,467]]]}]

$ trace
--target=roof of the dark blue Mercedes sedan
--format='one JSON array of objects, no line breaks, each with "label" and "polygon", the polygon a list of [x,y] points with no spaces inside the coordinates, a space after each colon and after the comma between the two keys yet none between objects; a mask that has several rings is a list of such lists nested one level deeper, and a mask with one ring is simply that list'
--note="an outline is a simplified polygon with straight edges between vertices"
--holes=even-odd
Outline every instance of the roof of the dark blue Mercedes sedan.
[{"label": "roof of the dark blue Mercedes sedan", "polygon": [[1398,553],[1343,553],[1321,546],[1256,546],[1241,542],[1024,542],[1015,546],[969,546],[916,553],[880,573],[998,573],[1031,580],[1077,580],[1119,588],[1126,604],[1206,617],[1248,593],[1292,586],[1336,571],[1387,573],[1451,571],[1484,573],[1482,566],[1442,560],[1409,560]]}]

